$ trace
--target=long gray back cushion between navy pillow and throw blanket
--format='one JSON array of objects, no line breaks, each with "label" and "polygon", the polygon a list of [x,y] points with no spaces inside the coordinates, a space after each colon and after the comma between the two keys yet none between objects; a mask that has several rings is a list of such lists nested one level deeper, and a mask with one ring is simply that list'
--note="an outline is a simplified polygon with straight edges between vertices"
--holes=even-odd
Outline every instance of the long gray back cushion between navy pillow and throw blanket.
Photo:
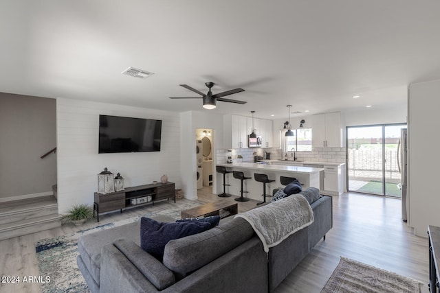
[{"label": "long gray back cushion between navy pillow and throw blanket", "polygon": [[177,277],[183,278],[243,244],[253,235],[254,229],[246,220],[234,218],[203,233],[171,240],[165,246],[163,263]]}]

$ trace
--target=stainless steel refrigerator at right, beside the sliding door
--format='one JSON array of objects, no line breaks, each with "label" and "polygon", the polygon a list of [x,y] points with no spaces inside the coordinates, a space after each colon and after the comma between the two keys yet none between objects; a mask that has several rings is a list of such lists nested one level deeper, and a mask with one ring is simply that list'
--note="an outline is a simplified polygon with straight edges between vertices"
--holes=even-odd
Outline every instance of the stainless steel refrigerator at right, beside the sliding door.
[{"label": "stainless steel refrigerator at right, beside the sliding door", "polygon": [[397,145],[397,165],[401,174],[401,218],[408,220],[408,130],[401,129],[399,144]]}]

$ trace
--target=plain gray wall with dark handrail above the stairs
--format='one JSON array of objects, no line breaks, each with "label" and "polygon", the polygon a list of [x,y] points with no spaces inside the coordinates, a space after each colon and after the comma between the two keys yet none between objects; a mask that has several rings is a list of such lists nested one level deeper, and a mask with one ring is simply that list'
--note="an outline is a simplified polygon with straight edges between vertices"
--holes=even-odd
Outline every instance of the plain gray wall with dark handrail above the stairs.
[{"label": "plain gray wall with dark handrail above the stairs", "polygon": [[55,146],[55,99],[0,93],[0,200],[52,191]]}]

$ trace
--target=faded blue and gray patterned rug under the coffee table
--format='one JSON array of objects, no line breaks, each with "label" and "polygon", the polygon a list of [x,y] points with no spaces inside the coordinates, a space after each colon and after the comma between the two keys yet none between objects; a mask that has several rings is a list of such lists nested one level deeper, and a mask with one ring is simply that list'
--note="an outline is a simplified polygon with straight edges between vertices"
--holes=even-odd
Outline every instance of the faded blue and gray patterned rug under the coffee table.
[{"label": "faded blue and gray patterned rug under the coffee table", "polygon": [[[151,218],[157,215],[168,215],[176,220],[181,218],[181,211],[198,207],[201,203],[192,200],[182,200],[178,205],[169,209],[155,209],[144,216]],[[118,222],[103,224],[94,228],[88,228],[69,235],[47,238],[35,243],[36,259],[39,263],[40,276],[50,277],[50,283],[41,284],[43,293],[89,292],[87,284],[76,265],[78,256],[78,238],[81,235],[94,233],[115,226],[121,226],[140,220],[140,216],[121,220]]]}]

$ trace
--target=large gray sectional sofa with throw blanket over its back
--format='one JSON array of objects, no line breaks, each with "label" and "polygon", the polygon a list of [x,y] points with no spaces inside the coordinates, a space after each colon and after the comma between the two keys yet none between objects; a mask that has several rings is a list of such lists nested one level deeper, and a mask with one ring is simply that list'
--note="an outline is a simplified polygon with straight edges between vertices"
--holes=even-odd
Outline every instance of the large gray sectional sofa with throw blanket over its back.
[{"label": "large gray sectional sofa with throw blanket over its back", "polygon": [[83,235],[77,263],[91,292],[271,292],[333,225],[332,198],[311,204],[314,223],[265,253],[243,218],[175,239],[163,262],[140,248],[140,223]]}]

